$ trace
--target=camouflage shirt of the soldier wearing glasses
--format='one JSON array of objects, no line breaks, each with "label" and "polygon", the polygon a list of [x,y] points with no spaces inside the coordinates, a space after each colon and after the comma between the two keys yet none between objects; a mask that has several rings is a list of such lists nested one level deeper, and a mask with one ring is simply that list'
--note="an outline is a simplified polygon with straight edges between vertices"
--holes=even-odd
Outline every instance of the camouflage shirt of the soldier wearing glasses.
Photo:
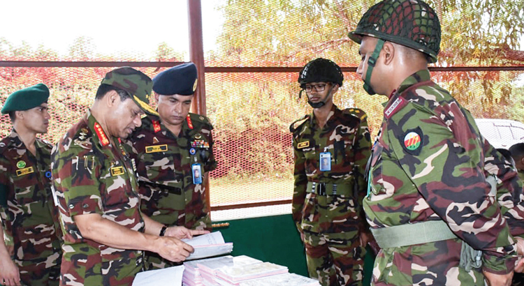
[{"label": "camouflage shirt of the soldier wearing glasses", "polygon": [[[293,220],[299,229],[314,233],[344,233],[362,229],[360,202],[365,196],[364,172],[370,156],[370,132],[365,112],[339,110],[335,105],[326,125],[319,128],[314,114],[305,116],[293,132],[295,187]],[[331,170],[319,170],[321,152],[329,152]],[[350,195],[307,193],[307,183],[349,186]]]}]

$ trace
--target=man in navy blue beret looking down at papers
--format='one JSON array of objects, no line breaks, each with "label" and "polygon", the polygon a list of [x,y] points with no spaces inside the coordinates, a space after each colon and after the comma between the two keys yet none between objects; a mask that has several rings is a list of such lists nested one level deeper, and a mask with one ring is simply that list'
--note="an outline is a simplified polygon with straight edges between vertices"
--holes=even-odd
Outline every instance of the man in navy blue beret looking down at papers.
[{"label": "man in navy blue beret looking down at papers", "polygon": [[[210,229],[205,184],[199,180],[217,163],[209,119],[189,113],[196,83],[194,63],[154,77],[159,119],[142,119],[142,128],[125,143],[136,160],[143,213],[164,225]],[[147,269],[174,265],[155,253],[146,254],[145,264]]]}]

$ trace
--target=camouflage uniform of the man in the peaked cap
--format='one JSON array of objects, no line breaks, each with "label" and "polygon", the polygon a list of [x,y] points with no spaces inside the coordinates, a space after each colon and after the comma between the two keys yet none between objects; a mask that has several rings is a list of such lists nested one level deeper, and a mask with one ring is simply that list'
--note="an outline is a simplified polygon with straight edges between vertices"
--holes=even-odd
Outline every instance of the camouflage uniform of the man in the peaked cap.
[{"label": "camouflage uniform of the man in the peaked cap", "polygon": [[91,113],[68,130],[52,151],[52,175],[64,233],[61,285],[131,285],[143,269],[143,252],[122,250],[85,239],[74,217],[99,213],[138,232],[138,183],[131,158],[116,146]]}]

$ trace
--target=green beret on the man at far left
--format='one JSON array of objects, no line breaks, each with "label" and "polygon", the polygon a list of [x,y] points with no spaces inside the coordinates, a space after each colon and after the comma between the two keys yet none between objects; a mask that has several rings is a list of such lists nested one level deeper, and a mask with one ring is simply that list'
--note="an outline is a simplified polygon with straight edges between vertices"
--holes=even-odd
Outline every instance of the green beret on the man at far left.
[{"label": "green beret on the man at far left", "polygon": [[12,111],[30,110],[48,101],[49,89],[45,84],[35,84],[11,93],[3,104],[2,114]]}]

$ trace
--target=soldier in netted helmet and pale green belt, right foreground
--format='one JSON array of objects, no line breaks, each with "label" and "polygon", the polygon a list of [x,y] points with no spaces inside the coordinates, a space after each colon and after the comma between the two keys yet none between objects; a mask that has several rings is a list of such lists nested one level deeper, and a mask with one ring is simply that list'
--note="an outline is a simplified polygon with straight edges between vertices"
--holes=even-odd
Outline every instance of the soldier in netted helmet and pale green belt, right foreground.
[{"label": "soldier in netted helmet and pale green belt, right foreground", "polygon": [[373,284],[508,285],[516,243],[486,180],[489,147],[470,112],[430,80],[440,43],[434,10],[381,1],[349,38],[361,44],[365,90],[388,96],[363,202],[382,248]]}]

